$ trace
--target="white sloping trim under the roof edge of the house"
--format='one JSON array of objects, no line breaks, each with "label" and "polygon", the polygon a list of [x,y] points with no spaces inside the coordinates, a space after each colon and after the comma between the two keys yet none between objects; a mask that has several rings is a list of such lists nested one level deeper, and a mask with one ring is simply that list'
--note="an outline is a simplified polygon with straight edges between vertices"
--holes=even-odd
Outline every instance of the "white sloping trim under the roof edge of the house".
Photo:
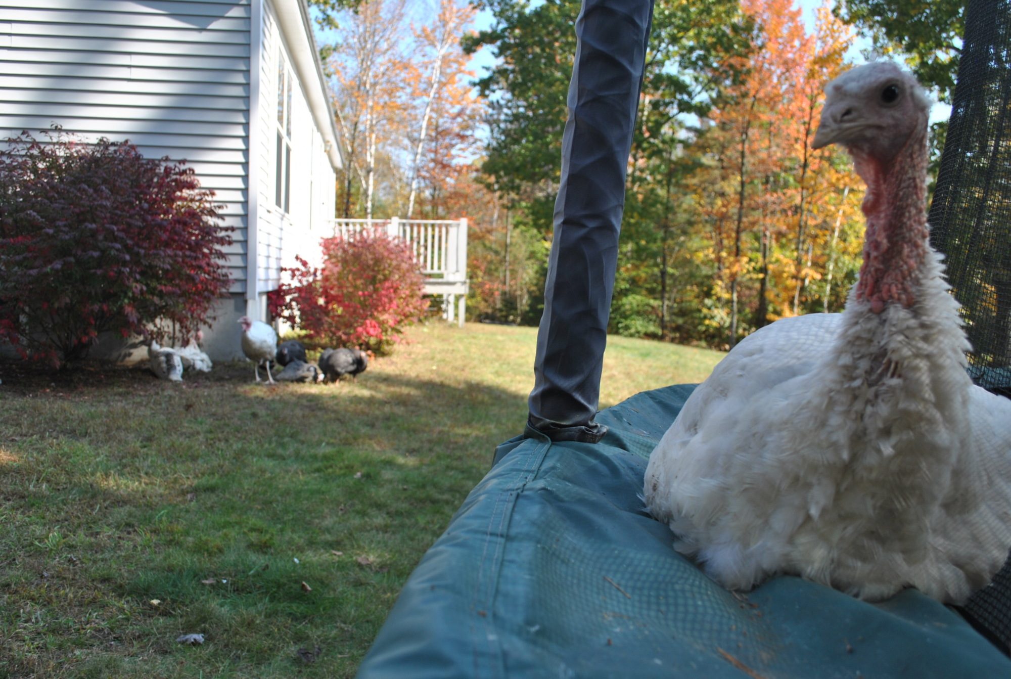
[{"label": "white sloping trim under the roof edge of the house", "polygon": [[[303,90],[309,111],[323,135],[324,149],[327,151],[331,167],[340,170],[344,165],[341,161],[340,146],[337,143],[337,120],[328,96],[330,88],[323,75],[319,50],[312,36],[308,5],[305,4],[305,0],[273,0],[273,4],[277,23],[281,32],[288,38],[288,56],[298,73],[298,79],[304,84]],[[312,87],[312,83],[316,83],[318,87]]]}]

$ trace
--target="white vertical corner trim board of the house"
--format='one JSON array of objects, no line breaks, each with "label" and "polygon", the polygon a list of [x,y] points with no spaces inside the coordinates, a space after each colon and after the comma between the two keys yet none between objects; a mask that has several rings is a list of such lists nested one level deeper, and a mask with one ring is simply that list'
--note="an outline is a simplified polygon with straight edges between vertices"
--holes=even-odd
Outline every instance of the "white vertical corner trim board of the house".
[{"label": "white vertical corner trim board of the house", "polygon": [[246,315],[260,319],[257,240],[260,236],[260,86],[263,79],[263,27],[265,0],[251,0],[250,11],[250,136],[247,152],[246,191]]}]

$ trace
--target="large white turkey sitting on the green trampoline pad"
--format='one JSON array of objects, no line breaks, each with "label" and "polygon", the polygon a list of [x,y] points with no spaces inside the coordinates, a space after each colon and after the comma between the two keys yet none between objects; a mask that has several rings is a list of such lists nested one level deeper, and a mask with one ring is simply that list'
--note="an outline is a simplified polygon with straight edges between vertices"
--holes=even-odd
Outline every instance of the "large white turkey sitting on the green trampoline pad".
[{"label": "large white turkey sitting on the green trampoline pad", "polygon": [[1011,400],[970,381],[928,241],[923,91],[879,62],[826,94],[813,146],[844,146],[867,184],[858,282],[842,313],[727,355],[653,451],[645,500],[731,589],[789,573],[960,603],[1011,549]]}]

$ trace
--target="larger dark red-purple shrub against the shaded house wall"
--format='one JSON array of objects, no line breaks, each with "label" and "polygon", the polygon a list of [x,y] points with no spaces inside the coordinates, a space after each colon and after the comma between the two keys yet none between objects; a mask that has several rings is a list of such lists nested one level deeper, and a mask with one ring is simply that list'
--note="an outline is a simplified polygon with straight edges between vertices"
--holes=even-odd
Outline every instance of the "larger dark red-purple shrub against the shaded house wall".
[{"label": "larger dark red-purple shrub against the shaded house wall", "polygon": [[213,192],[129,142],[44,134],[0,148],[0,341],[59,366],[106,330],[194,333],[228,288]]}]

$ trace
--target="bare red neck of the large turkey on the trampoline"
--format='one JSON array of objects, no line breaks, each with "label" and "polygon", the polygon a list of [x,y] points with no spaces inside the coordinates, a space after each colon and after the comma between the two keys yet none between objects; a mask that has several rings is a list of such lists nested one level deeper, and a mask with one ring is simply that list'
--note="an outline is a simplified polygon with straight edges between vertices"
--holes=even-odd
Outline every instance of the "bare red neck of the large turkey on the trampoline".
[{"label": "bare red neck of the large turkey on the trampoline", "polygon": [[926,214],[926,130],[915,132],[890,162],[851,151],[867,184],[861,206],[867,218],[856,298],[881,313],[889,302],[916,301],[919,269],[929,252]]}]

